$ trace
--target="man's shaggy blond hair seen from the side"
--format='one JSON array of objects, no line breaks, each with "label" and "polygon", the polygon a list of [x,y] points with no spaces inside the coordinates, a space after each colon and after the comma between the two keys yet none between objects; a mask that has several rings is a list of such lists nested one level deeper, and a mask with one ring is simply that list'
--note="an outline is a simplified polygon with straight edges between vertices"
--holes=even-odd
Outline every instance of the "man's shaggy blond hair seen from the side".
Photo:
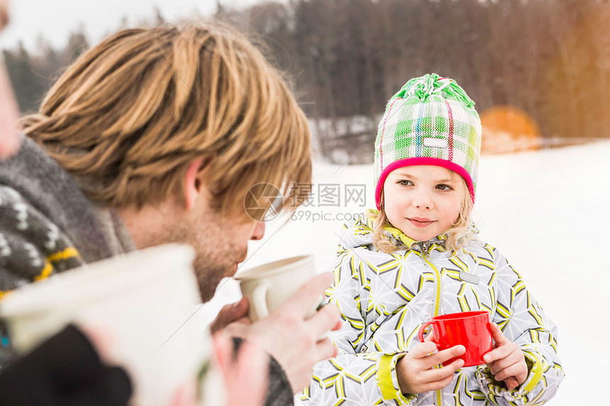
[{"label": "man's shaggy blond hair seen from the side", "polygon": [[286,197],[311,181],[309,126],[282,74],[220,23],[118,31],[68,67],[22,125],[112,207],[184,202],[187,168],[201,157],[225,215],[255,184]]}]

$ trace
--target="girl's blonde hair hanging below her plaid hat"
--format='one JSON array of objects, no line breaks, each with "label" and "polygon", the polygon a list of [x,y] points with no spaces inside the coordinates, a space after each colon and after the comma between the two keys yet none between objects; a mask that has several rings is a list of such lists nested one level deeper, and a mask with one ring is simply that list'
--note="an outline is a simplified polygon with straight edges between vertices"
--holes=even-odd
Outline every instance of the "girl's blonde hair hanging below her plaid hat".
[{"label": "girl's blonde hair hanging below her plaid hat", "polygon": [[[460,248],[464,246],[466,242],[472,239],[472,233],[470,232],[470,227],[472,224],[472,197],[470,196],[470,191],[468,191],[468,186],[466,185],[466,181],[462,178],[462,176],[456,174],[454,171],[450,171],[451,179],[457,184],[456,191],[460,196],[460,212],[457,215],[457,219],[453,226],[445,232],[445,247],[452,252],[457,252]],[[379,213],[375,217],[375,227],[373,230],[373,244],[379,251],[390,254],[397,249],[397,246],[392,242],[392,240],[384,237],[382,230],[387,226],[394,227],[389,220],[387,219],[387,215],[385,213],[385,197],[384,191],[382,188],[381,197],[379,201]]]}]

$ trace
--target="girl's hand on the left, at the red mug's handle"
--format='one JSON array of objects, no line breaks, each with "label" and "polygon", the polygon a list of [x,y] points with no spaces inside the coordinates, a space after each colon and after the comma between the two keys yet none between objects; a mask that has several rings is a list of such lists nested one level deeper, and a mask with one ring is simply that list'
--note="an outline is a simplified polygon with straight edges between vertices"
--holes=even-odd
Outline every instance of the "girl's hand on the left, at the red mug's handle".
[{"label": "girl's hand on the left, at the red mug's handle", "polygon": [[434,368],[466,352],[464,346],[456,345],[443,351],[436,351],[436,344],[431,341],[433,334],[428,334],[426,341],[414,346],[396,365],[398,383],[402,393],[429,392],[445,388],[453,380],[453,373],[462,368],[464,361],[456,359],[448,366]]}]

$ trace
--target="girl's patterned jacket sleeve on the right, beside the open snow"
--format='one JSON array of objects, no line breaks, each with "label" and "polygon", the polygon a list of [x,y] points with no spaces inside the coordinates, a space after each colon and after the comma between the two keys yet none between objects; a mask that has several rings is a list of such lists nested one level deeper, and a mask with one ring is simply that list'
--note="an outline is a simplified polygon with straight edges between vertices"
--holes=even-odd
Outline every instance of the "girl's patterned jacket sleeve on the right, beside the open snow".
[{"label": "girl's patterned jacket sleeve on the right, beside the open snow", "polygon": [[494,380],[487,366],[479,366],[477,382],[495,405],[542,404],[557,393],[564,376],[557,355],[557,326],[528,292],[521,276],[498,254],[496,278],[497,307],[493,321],[507,339],[521,347],[529,373],[523,384],[507,390],[503,383]]}]

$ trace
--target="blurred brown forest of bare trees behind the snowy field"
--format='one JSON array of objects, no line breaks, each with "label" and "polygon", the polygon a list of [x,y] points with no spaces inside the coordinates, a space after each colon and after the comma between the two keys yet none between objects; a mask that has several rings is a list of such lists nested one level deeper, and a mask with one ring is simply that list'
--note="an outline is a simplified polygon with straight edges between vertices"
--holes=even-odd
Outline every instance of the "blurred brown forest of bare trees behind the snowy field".
[{"label": "blurred brown forest of bare trees behind the snowy field", "polygon": [[[265,44],[314,123],[360,116],[374,131],[406,80],[437,72],[456,79],[479,112],[514,106],[545,137],[610,137],[606,0],[289,0],[243,10],[218,4],[219,18]],[[35,110],[52,79],[87,46],[74,33],[64,50],[4,50],[21,110]],[[337,134],[328,126],[322,132],[333,134],[326,140],[332,148]]]}]

